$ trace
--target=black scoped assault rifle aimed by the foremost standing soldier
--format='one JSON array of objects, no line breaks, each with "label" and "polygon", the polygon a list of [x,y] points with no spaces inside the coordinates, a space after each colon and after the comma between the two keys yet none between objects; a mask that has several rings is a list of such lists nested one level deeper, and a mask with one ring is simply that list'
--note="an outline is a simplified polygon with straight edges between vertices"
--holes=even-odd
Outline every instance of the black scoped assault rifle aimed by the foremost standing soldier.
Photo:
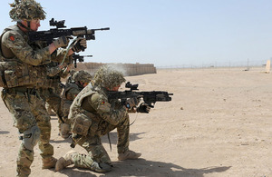
[{"label": "black scoped assault rifle aimed by the foremost standing soldier", "polygon": [[45,41],[47,44],[51,44],[54,38],[61,36],[77,36],[84,37],[86,40],[95,40],[95,31],[102,30],[110,30],[109,27],[99,28],[99,29],[88,29],[86,26],[84,27],[73,27],[70,29],[60,29],[66,27],[64,25],[65,20],[62,21],[54,21],[52,18],[49,21],[49,25],[56,26],[56,28],[50,29],[48,31],[31,31],[29,32],[29,41]]}]

